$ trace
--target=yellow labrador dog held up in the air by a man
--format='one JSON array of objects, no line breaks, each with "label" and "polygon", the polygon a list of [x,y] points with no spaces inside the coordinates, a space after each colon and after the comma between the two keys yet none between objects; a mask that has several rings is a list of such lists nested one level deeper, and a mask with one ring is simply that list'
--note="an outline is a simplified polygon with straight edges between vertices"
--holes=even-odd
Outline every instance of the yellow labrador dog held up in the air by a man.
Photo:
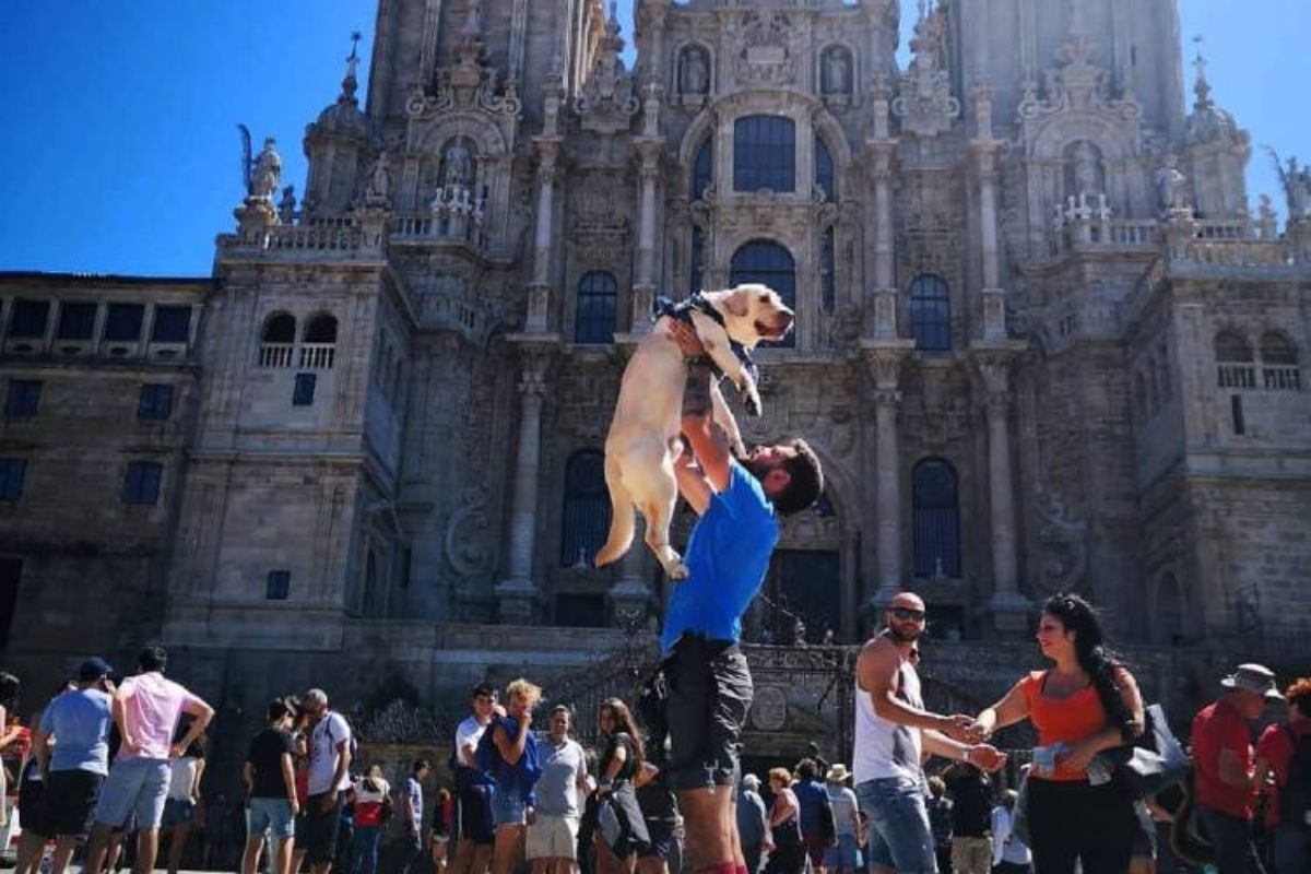
[{"label": "yellow labrador dog held up in the air by a man", "polygon": [[[747,351],[760,341],[779,341],[792,329],[793,313],[767,286],[742,284],[728,291],[701,292],[691,308],[692,326],[705,354],[733,383],[753,415],[760,414],[760,394],[732,342]],[[673,316],[656,322],[637,345],[619,387],[615,418],[606,438],[606,485],[611,520],[597,567],[617,561],[633,542],[635,510],[646,518],[646,545],[670,579],[686,579],[687,566],[669,544],[669,525],[678,501],[674,457],[679,444],[687,360],[673,337]],[[728,434],[734,453],[746,455],[737,422],[716,385],[714,421]]]}]

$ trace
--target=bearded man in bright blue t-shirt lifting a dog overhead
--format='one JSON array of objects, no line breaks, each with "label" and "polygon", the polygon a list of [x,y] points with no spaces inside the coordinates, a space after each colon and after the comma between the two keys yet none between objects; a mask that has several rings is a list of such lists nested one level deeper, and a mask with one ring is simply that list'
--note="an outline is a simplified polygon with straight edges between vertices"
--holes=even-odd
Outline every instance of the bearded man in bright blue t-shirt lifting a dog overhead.
[{"label": "bearded man in bright blue t-shirt lifting a dog overhead", "polygon": [[678,487],[700,520],[674,584],[661,633],[669,700],[669,785],[679,793],[687,849],[697,874],[742,874],[733,801],[738,736],[751,706],[751,672],[738,649],[742,615],[779,541],[776,514],[809,507],[823,491],[819,460],[804,440],[756,447],[734,459],[714,423],[709,367],[695,332],[675,326],[688,367],[683,393],[684,452]]}]

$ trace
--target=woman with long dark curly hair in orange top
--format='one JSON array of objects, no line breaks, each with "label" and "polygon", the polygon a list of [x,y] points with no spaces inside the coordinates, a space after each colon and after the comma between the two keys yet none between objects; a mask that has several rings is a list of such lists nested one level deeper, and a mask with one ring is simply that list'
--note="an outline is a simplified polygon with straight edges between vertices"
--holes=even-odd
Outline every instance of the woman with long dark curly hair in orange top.
[{"label": "woman with long dark curly hair in orange top", "polygon": [[[1139,828],[1127,784],[1112,776],[1093,785],[1088,765],[1104,750],[1133,743],[1143,730],[1143,702],[1133,675],[1106,651],[1101,622],[1078,595],[1055,595],[1042,608],[1038,647],[1054,662],[1016,683],[979,714],[982,740],[1023,719],[1042,747],[1059,744],[1054,768],[1029,773],[1028,820],[1036,874],[1124,874]],[[1037,759],[1041,759],[1038,756]]]}]

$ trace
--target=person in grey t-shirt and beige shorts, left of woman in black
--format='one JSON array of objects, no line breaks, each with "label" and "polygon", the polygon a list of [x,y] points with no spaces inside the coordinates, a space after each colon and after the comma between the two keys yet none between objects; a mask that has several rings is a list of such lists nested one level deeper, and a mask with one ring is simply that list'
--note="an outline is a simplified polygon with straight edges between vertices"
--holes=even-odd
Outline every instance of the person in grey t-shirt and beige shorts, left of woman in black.
[{"label": "person in grey t-shirt and beige shorts, left of woman in black", "polygon": [[587,791],[587,753],[569,736],[572,714],[557,704],[538,744],[538,805],[526,840],[532,874],[569,874],[578,857],[579,791]]}]

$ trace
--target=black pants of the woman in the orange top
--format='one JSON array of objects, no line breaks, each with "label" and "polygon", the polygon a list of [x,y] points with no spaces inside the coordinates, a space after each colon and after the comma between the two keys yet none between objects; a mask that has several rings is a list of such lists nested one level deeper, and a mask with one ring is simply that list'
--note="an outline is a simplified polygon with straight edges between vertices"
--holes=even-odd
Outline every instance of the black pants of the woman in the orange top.
[{"label": "black pants of the woman in the orange top", "polygon": [[1029,836],[1037,874],[1124,874],[1133,856],[1138,818],[1127,786],[1118,780],[1029,778]]}]

